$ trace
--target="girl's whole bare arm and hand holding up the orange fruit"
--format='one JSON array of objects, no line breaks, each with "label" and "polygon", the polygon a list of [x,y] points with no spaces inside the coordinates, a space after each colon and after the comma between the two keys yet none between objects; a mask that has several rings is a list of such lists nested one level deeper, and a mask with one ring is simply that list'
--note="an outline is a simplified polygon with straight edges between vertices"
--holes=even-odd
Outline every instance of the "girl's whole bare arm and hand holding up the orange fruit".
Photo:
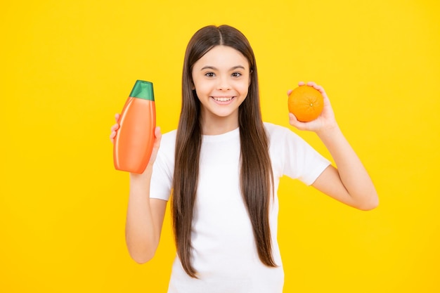
[{"label": "girl's whole bare arm and hand holding up the orange fruit", "polygon": [[[304,83],[300,83],[303,85]],[[379,204],[377,192],[361,160],[337,126],[330,101],[322,88],[313,86],[324,96],[324,109],[320,117],[312,122],[298,122],[290,115],[290,124],[302,130],[315,131],[335,160],[336,167],[328,167],[313,183],[313,187],[326,195],[357,209],[374,209]]]}]

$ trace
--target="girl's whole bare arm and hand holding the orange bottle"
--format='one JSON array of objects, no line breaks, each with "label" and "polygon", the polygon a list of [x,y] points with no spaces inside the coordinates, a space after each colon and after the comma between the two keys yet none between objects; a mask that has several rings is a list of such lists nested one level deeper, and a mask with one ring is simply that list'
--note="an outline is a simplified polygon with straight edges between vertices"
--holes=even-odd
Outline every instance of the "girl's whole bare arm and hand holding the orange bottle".
[{"label": "girl's whole bare arm and hand holding the orange bottle", "polygon": [[[115,118],[118,119],[119,115]],[[118,124],[112,126],[110,140],[115,138]],[[155,143],[150,162],[143,174],[130,174],[129,204],[125,224],[125,240],[129,254],[137,263],[153,258],[159,245],[160,233],[167,208],[167,201],[150,199],[150,182],[153,164],[160,147],[160,129],[155,129]]]}]

